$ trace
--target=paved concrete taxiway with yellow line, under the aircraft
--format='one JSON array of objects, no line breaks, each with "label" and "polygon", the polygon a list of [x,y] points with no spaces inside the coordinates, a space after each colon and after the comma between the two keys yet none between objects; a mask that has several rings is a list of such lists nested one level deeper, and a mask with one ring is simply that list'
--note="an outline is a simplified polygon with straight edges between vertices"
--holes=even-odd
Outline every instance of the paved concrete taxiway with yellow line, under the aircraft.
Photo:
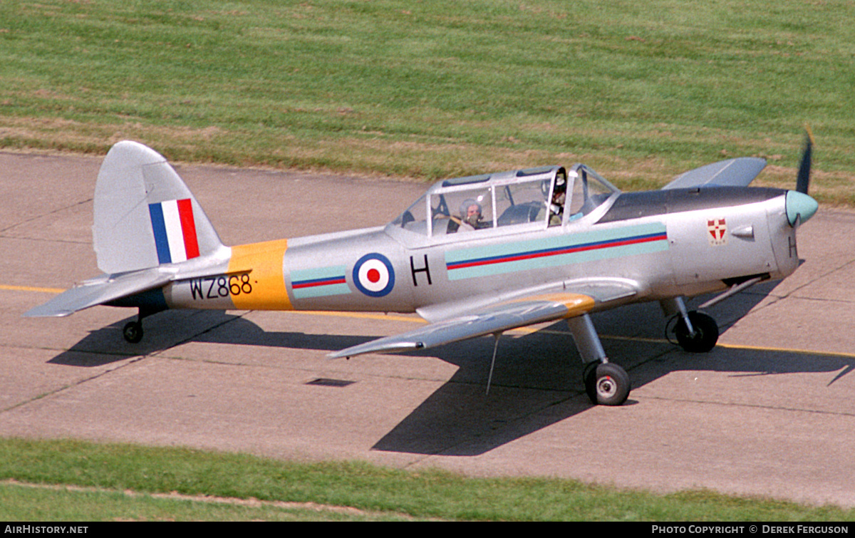
[{"label": "paved concrete taxiway with yellow line, under the aircraft", "polygon": [[[411,315],[168,311],[145,320],[137,345],[121,337],[133,310],[21,317],[97,275],[91,219],[100,163],[0,152],[2,436],[855,506],[852,210],[823,207],[805,224],[805,262],[786,281],[711,308],[722,336],[708,354],[670,345],[657,304],[594,316],[606,352],[633,382],[627,404],[610,408],[588,402],[563,323],[504,334],[485,395],[489,337],[407,355],[326,358],[414,327]],[[380,225],[425,188],[175,168],[227,245]]]}]

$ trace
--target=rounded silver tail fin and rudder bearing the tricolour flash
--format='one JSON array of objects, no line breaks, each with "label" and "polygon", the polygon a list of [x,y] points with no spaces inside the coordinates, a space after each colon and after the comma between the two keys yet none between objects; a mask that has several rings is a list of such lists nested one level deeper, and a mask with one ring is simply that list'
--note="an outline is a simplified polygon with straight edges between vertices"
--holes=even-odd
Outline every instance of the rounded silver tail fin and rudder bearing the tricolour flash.
[{"label": "rounded silver tail fin and rudder bearing the tricolour flash", "polygon": [[98,172],[94,205],[92,237],[104,273],[179,263],[222,245],[166,159],[136,142],[110,149]]}]

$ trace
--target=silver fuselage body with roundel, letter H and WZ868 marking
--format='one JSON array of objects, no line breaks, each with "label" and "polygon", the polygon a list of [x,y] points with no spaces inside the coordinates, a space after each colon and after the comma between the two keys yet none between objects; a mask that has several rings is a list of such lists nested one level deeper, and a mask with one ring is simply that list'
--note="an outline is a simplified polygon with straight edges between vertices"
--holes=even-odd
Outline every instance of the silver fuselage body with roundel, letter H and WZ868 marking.
[{"label": "silver fuselage body with roundel, letter H and WZ868 marking", "polygon": [[[429,321],[580,283],[626,283],[638,293],[625,302],[690,297],[796,269],[786,198],[752,187],[615,192],[560,226],[426,235],[392,223],[288,239],[264,254],[280,257],[269,265],[281,276],[241,275],[233,255],[228,274],[174,281],[163,294],[170,308],[417,311]],[[286,297],[271,297],[260,276],[281,278]]]}]

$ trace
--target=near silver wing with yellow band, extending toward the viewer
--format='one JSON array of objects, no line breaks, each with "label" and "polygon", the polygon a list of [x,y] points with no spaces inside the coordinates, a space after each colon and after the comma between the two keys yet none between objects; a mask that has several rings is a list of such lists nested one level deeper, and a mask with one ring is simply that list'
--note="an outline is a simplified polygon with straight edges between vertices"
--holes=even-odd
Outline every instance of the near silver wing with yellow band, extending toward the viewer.
[{"label": "near silver wing with yellow band, extending toward the viewer", "polygon": [[502,333],[511,328],[525,327],[534,323],[581,316],[595,307],[627,299],[637,293],[637,287],[619,281],[576,285],[560,293],[531,294],[493,304],[471,314],[431,323],[404,334],[386,336],[365,344],[351,346],[340,352],[330,353],[327,357],[341,358],[363,353],[428,349],[484,334]]}]

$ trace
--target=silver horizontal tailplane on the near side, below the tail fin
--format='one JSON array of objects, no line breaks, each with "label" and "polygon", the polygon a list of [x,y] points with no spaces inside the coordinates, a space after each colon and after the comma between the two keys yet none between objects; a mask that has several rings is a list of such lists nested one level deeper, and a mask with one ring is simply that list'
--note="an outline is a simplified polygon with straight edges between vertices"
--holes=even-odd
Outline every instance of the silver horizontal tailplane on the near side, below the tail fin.
[{"label": "silver horizontal tailplane on the near side, below the tail fin", "polygon": [[24,316],[68,316],[77,310],[109,303],[115,299],[121,299],[134,293],[142,293],[155,287],[162,287],[172,278],[171,273],[159,271],[157,268],[124,275],[103,275],[60,293],[47,303],[40,304],[27,311]]}]

